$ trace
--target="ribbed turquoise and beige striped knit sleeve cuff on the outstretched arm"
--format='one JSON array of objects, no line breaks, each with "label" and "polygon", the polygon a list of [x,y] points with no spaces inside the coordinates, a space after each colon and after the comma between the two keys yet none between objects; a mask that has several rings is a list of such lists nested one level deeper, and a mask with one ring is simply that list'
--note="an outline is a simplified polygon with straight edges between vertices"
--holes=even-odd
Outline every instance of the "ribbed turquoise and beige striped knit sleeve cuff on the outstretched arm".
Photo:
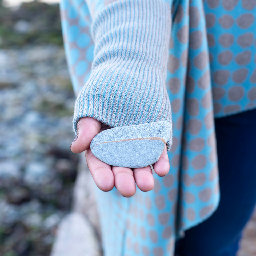
[{"label": "ribbed turquoise and beige striped knit sleeve cuff on the outstretched arm", "polygon": [[[117,1],[95,13],[89,80],[77,97],[74,130],[82,117],[110,127],[171,123],[167,95],[170,6],[159,0]],[[171,134],[167,150],[171,146]]]}]

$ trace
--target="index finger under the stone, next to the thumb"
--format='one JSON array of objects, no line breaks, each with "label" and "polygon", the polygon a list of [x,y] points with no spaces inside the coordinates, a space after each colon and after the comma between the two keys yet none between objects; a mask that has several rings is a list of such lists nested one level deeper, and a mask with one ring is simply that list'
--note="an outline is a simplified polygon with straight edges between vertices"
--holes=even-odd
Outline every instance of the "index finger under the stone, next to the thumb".
[{"label": "index finger under the stone, next to the thumb", "polygon": [[90,148],[85,151],[85,158],[98,188],[105,192],[113,189],[114,175],[111,166],[95,157]]}]

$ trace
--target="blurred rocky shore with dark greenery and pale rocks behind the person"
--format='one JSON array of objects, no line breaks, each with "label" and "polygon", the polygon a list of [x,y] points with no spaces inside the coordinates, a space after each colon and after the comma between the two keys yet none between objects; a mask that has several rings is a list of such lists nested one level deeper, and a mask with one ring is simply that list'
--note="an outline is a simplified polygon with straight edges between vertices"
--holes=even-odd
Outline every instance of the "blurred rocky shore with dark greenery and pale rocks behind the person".
[{"label": "blurred rocky shore with dark greenery and pale rocks behind the person", "polygon": [[[59,5],[0,0],[1,256],[102,255],[91,176],[70,151],[74,101]],[[241,246],[256,256],[256,214]]]}]

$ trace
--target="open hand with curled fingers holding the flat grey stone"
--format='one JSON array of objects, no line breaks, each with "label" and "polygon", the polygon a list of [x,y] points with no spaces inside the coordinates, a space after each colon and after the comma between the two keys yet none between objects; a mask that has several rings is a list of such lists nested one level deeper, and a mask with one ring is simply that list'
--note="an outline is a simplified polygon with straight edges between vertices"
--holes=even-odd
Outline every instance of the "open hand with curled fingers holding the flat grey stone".
[{"label": "open hand with curled fingers holding the flat grey stone", "polygon": [[[126,168],[111,166],[102,162],[93,155],[90,143],[99,132],[110,127],[98,120],[85,117],[77,123],[78,137],[71,144],[70,149],[74,153],[85,151],[87,165],[93,176],[94,182],[102,191],[110,191],[115,186],[124,197],[131,197],[136,192],[135,182],[142,191],[149,191],[154,188],[154,178],[150,166],[144,168]],[[159,160],[153,164],[153,169],[159,176],[169,172],[170,164],[165,149]]]}]

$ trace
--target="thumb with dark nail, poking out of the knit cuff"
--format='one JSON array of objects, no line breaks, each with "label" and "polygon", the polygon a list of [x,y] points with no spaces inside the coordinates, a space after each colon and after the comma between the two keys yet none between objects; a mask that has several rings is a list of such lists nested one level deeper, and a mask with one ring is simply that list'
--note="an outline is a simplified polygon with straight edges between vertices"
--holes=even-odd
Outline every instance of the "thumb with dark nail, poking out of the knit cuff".
[{"label": "thumb with dark nail, poking out of the knit cuff", "polygon": [[91,140],[101,129],[101,122],[92,117],[83,117],[77,123],[77,137],[70,149],[74,153],[81,153],[90,147]]}]

